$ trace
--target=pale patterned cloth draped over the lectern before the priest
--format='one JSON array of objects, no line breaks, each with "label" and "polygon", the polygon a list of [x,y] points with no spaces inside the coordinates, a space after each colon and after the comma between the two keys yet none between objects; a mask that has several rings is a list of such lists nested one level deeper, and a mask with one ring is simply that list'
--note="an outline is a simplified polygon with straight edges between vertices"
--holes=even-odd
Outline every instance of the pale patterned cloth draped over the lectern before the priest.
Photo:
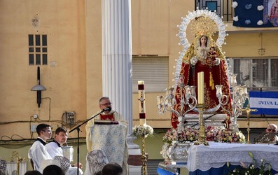
[{"label": "pale patterned cloth draped over the lectern before the priest", "polygon": [[90,141],[92,150],[102,150],[109,162],[123,165],[127,127],[125,125],[92,125]]}]

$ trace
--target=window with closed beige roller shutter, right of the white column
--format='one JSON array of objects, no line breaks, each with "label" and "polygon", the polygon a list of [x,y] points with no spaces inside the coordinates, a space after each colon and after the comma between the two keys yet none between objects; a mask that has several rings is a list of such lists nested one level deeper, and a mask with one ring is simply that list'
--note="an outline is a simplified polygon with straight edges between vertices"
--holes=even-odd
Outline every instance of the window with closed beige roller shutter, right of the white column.
[{"label": "window with closed beige roller shutter, right of the white column", "polygon": [[133,56],[132,92],[138,92],[138,80],[144,80],[146,92],[164,92],[169,86],[169,57]]}]

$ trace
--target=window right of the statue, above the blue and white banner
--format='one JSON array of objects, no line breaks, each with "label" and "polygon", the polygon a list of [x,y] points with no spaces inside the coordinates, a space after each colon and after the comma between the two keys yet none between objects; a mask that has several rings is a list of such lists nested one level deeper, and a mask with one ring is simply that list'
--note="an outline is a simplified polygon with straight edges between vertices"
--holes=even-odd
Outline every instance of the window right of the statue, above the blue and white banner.
[{"label": "window right of the statue, above the blue and white banner", "polygon": [[235,58],[237,83],[248,87],[278,87],[278,58]]}]

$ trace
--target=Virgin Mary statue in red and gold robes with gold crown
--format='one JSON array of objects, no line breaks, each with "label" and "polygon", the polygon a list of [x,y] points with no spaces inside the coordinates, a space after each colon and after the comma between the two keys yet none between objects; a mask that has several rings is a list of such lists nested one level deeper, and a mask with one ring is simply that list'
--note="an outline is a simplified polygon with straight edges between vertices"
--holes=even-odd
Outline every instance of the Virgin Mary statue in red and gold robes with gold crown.
[{"label": "Virgin Mary statue in red and gold robes with gold crown", "polygon": [[[213,109],[219,104],[216,97],[215,85],[222,85],[223,94],[227,95],[228,103],[223,108],[218,109],[216,113],[232,113],[230,85],[227,75],[227,66],[225,64],[225,56],[218,47],[214,39],[212,38],[215,31],[212,28],[216,28],[214,21],[210,18],[201,16],[195,18],[195,38],[193,43],[186,50],[179,72],[179,77],[183,79],[184,85],[195,86],[197,90],[197,73],[204,72],[204,109]],[[189,106],[183,106],[181,109],[181,92],[183,88],[179,88],[179,84],[176,85],[176,92],[174,94],[176,99],[176,105],[174,110],[176,111],[188,111]],[[196,92],[196,97],[197,97]],[[189,113],[197,113],[190,111]],[[186,120],[186,118],[185,118]],[[179,124],[178,116],[172,113],[172,127],[176,128]],[[228,127],[228,123],[226,125]]]}]

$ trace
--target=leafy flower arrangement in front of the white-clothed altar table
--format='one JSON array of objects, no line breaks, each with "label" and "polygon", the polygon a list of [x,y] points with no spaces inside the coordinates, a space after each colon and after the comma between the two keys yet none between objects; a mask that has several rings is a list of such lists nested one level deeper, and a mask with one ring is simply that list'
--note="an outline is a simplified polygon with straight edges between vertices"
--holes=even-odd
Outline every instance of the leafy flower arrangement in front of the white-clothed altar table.
[{"label": "leafy flower arrangement in front of the white-clothed altar table", "polygon": [[253,153],[248,152],[249,156],[252,158],[253,163],[249,166],[246,166],[244,162],[240,162],[242,167],[236,168],[234,170],[230,169],[230,163],[227,162],[227,167],[230,169],[230,175],[263,175],[271,174],[271,165],[270,163],[265,162],[264,159],[260,160],[260,165],[258,165],[257,160],[253,157]]}]

